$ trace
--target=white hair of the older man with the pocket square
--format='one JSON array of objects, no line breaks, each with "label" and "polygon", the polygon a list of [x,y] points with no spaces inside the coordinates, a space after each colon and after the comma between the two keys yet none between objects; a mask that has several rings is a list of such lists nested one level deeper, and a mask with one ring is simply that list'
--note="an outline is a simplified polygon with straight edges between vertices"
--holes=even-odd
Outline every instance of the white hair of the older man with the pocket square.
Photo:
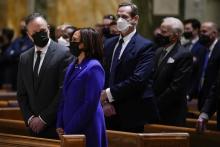
[{"label": "white hair of the older man with the pocket square", "polygon": [[163,19],[163,23],[169,25],[174,34],[181,36],[184,31],[183,23],[175,17],[166,17]]}]

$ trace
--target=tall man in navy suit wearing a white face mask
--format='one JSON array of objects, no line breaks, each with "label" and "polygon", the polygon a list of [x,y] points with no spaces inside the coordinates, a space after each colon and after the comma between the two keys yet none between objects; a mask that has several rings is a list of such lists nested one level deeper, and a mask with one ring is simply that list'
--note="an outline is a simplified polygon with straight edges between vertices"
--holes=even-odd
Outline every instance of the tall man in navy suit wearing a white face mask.
[{"label": "tall man in navy suit wearing a white face mask", "polygon": [[136,5],[120,4],[117,17],[120,36],[104,44],[106,124],[108,129],[143,132],[144,124],[158,119],[151,80],[154,50],[152,43],[136,32]]}]

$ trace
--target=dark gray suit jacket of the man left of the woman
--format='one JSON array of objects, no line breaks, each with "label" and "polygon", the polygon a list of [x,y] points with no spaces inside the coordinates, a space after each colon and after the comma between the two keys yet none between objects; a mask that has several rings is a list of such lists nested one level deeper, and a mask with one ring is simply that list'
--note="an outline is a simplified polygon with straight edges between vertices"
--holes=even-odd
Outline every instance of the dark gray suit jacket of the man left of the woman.
[{"label": "dark gray suit jacket of the man left of the woman", "polygon": [[32,116],[41,116],[47,126],[56,122],[64,70],[70,60],[67,48],[51,40],[39,73],[39,88],[33,86],[34,47],[22,53],[18,69],[17,98],[27,125]]}]

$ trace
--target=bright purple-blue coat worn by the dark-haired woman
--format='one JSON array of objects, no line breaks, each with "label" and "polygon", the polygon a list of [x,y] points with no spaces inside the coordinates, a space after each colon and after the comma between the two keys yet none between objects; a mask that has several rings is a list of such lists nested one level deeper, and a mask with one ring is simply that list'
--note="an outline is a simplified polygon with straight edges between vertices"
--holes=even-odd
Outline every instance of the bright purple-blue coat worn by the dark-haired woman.
[{"label": "bright purple-blue coat worn by the dark-haired woman", "polygon": [[105,122],[100,94],[104,70],[96,60],[85,59],[78,67],[71,63],[63,86],[57,127],[65,134],[85,134],[87,147],[105,147]]}]

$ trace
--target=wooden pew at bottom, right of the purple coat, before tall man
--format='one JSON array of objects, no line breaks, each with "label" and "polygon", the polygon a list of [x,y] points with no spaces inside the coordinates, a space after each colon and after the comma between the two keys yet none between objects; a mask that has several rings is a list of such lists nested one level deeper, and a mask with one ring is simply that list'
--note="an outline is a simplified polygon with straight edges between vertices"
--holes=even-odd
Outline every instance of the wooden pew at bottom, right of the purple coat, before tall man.
[{"label": "wooden pew at bottom, right of the purple coat, before tall man", "polygon": [[109,147],[189,147],[188,133],[129,133],[107,130]]}]

